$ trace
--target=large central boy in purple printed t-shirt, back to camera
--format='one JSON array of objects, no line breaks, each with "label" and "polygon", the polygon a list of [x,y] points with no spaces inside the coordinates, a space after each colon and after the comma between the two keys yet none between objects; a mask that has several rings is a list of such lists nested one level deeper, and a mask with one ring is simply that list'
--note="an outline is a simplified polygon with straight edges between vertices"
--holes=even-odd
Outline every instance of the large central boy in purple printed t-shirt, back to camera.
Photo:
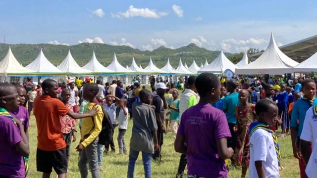
[{"label": "large central boy in purple printed t-shirt, back to camera", "polygon": [[[220,97],[220,81],[212,73],[202,73],[195,86],[200,100],[183,113],[174,149],[187,155],[188,177],[227,178],[224,160],[233,155],[227,147],[231,134],[225,114],[211,106]],[[190,144],[186,147],[185,142]]]}]

